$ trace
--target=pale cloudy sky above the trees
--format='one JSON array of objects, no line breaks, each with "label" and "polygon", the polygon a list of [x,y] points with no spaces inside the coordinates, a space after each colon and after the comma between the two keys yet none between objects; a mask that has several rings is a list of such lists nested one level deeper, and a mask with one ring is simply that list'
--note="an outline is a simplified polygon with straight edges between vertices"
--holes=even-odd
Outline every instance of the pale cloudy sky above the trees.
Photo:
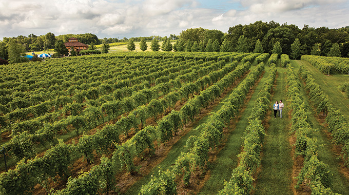
[{"label": "pale cloudy sky above the trees", "polygon": [[349,26],[346,0],[0,0],[0,40],[29,34],[92,33],[99,38],[179,35],[256,21]]}]

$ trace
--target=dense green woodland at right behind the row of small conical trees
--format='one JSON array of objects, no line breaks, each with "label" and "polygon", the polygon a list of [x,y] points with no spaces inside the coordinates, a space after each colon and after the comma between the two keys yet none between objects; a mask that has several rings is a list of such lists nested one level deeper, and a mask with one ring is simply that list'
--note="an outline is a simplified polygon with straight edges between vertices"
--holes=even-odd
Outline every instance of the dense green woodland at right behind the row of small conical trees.
[{"label": "dense green woodland at right behind the row of small conical trees", "polygon": [[249,25],[236,25],[230,27],[228,33],[219,30],[206,30],[202,28],[187,29],[181,32],[181,41],[197,42],[206,46],[209,40],[218,40],[220,44],[224,40],[230,42],[231,51],[238,51],[239,38],[243,35],[246,42],[246,50],[243,52],[253,52],[258,40],[263,46],[263,52],[273,53],[274,45],[279,42],[282,53],[290,55],[291,47],[298,38],[301,44],[301,54],[312,54],[312,49],[320,51],[314,53],[327,55],[334,44],[338,44],[342,57],[348,57],[349,52],[349,27],[340,29],[329,29],[327,27],[313,28],[304,25],[302,29],[296,25],[280,25],[279,23],[257,21]]}]

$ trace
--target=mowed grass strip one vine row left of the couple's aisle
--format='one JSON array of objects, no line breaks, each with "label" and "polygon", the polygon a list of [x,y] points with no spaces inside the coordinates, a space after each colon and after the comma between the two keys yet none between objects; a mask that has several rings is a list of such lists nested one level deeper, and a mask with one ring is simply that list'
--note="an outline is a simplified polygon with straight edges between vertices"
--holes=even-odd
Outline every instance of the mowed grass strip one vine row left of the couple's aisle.
[{"label": "mowed grass strip one vine row left of the couple's aisle", "polygon": [[251,113],[257,95],[262,89],[268,73],[269,67],[265,66],[264,75],[251,96],[250,101],[245,106],[245,109],[239,114],[240,118],[231,122],[236,123],[237,121],[236,128],[229,134],[225,146],[217,154],[216,161],[208,165],[208,169],[210,169],[210,179],[205,183],[199,194],[217,194],[219,190],[224,188],[224,180],[229,181],[231,178],[232,169],[238,166],[237,155],[241,152],[241,137],[248,125],[247,118]]}]

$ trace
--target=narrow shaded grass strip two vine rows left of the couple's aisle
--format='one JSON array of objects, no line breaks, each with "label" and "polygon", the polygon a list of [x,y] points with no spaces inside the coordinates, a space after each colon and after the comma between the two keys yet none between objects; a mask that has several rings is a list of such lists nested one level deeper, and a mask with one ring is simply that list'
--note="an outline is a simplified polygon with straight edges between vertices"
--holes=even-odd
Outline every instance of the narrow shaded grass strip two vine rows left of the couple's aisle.
[{"label": "narrow shaded grass strip two vine rows left of the couple's aisle", "polygon": [[[255,67],[251,67],[251,69],[254,69]],[[225,99],[227,99],[230,95],[230,93],[232,92],[229,91],[221,100],[221,102],[214,108],[212,109],[211,112],[216,112],[218,111],[222,106],[223,106],[223,102]],[[200,121],[197,121],[196,124],[192,127],[192,129],[195,129],[197,126],[207,122],[209,117],[209,114],[207,114],[206,116],[204,116]],[[185,134],[184,136],[182,136],[182,138],[172,146],[170,152],[167,154],[167,157],[156,167],[154,167],[152,169],[152,171],[145,175],[141,180],[137,181],[136,183],[134,183],[126,192],[125,194],[138,194],[138,192],[141,190],[142,185],[147,184],[150,179],[151,179],[151,175],[155,174],[159,168],[166,170],[168,168],[170,168],[171,165],[175,164],[176,160],[178,159],[179,155],[181,154],[181,152],[187,152],[188,149],[184,148],[184,146],[186,145],[186,141],[189,138],[189,136],[191,135],[199,135],[200,131],[195,131],[195,130],[191,130],[189,131],[187,134]],[[240,139],[240,137],[239,137]]]}]

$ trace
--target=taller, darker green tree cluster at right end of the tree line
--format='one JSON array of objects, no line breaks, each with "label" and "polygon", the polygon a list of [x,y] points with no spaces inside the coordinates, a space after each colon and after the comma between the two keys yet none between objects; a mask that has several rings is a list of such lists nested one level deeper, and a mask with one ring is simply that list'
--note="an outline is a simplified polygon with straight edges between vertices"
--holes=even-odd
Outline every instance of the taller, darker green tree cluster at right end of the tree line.
[{"label": "taller, darker green tree cluster at right end of the tree line", "polygon": [[[224,36],[231,43],[233,51],[241,50],[239,38],[246,38],[248,52],[255,52],[258,40],[266,53],[274,53],[274,46],[279,42],[282,53],[290,55],[293,59],[299,59],[303,54],[338,55],[348,57],[349,53],[349,27],[329,29],[327,27],[311,28],[304,25],[302,29],[296,25],[287,23],[280,25],[274,21],[257,21],[248,25],[236,25],[230,27]],[[298,40],[298,41],[296,41]],[[240,40],[242,41],[242,40]],[[338,44],[339,47],[334,46]]]}]

